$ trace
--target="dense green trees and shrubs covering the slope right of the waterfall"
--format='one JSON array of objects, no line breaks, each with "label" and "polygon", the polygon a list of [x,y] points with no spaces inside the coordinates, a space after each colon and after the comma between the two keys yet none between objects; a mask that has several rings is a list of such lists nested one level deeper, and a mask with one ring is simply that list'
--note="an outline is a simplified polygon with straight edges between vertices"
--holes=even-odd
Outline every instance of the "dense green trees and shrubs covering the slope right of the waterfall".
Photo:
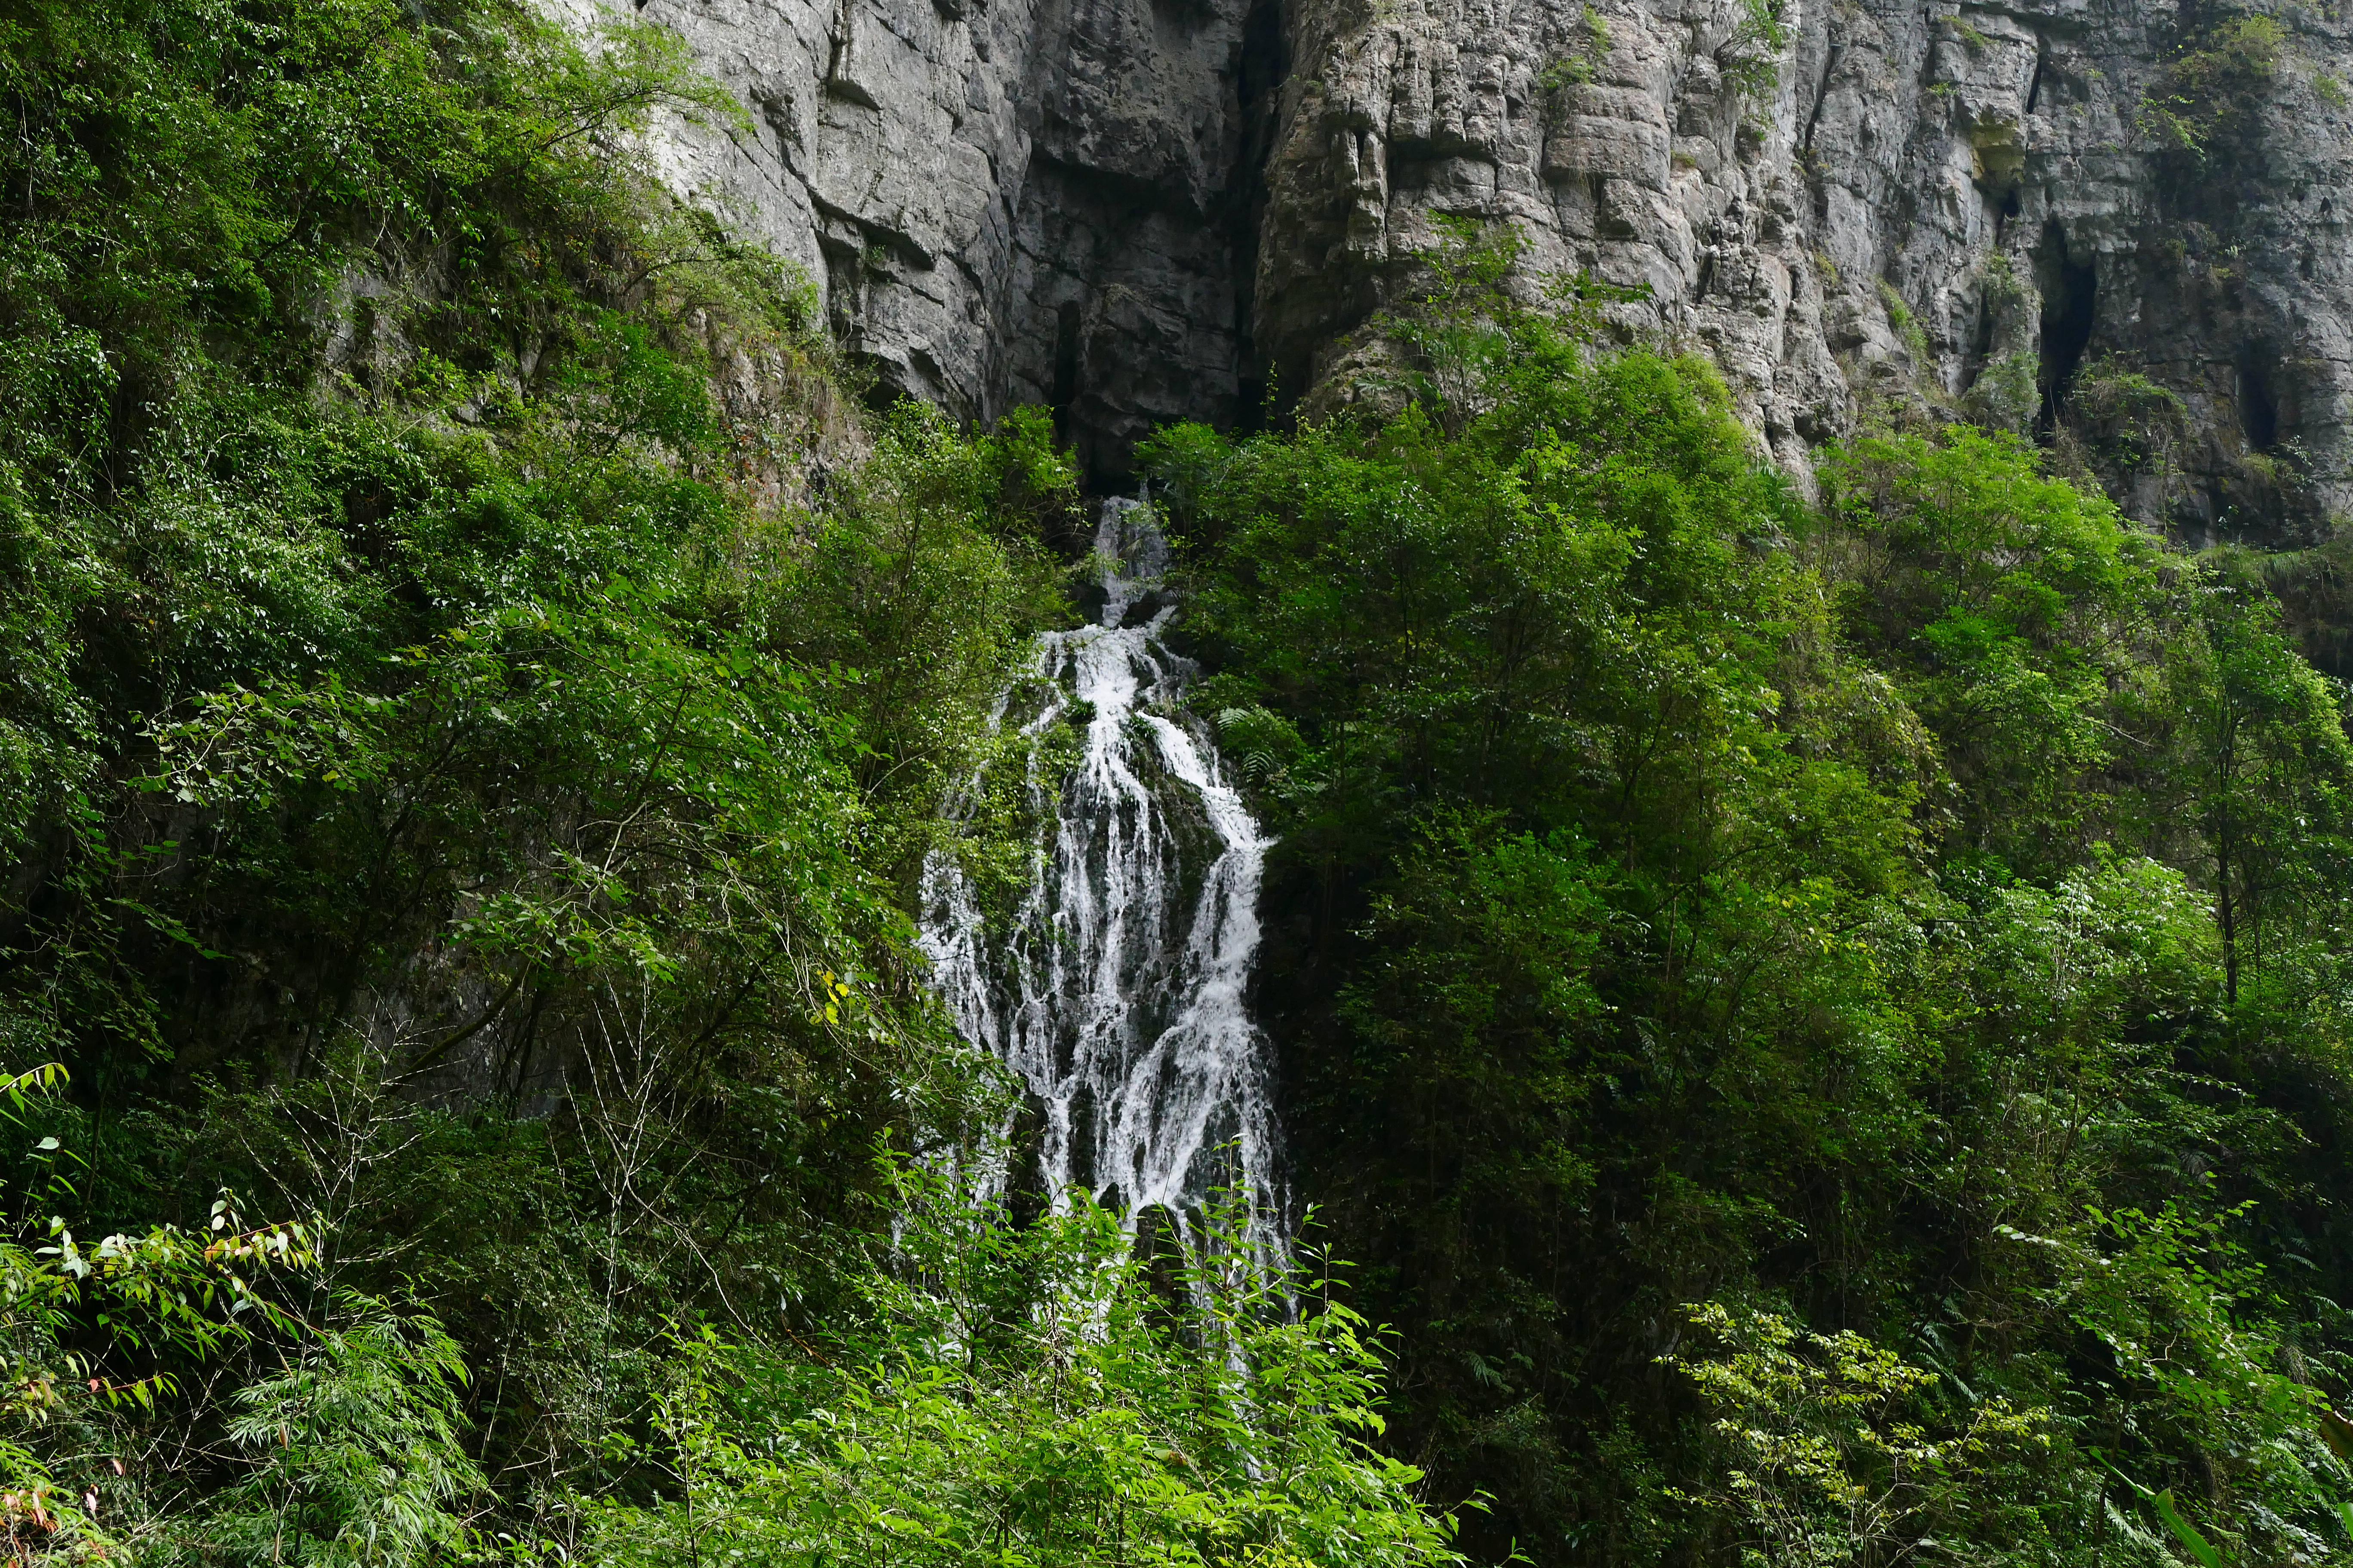
[{"label": "dense green trees and shrubs covering the slope right of the waterfall", "polygon": [[2344,1556],[2339,686],[2012,437],[1802,503],[1506,263],[1393,414],[1153,451],[1402,1453],[1480,1556]]}]

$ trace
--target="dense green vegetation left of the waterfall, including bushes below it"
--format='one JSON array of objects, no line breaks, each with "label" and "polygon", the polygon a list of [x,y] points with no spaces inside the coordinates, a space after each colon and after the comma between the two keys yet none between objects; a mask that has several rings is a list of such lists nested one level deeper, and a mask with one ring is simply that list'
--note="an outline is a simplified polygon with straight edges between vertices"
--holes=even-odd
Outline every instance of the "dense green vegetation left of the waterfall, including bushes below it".
[{"label": "dense green vegetation left of the waterfall, including bushes below it", "polygon": [[852,411],[656,31],[5,28],[12,1561],[1445,1561],[1346,1309],[906,1164],[1047,423]]}]

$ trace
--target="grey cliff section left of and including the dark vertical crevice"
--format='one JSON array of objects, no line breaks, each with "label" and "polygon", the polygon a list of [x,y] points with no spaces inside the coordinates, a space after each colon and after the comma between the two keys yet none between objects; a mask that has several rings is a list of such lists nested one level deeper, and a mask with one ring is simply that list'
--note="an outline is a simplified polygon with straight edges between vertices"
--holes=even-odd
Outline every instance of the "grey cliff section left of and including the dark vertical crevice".
[{"label": "grey cliff section left of and including the dark vertical crevice", "polygon": [[885,395],[1052,404],[1118,475],[1155,423],[1254,402],[1247,169],[1282,40],[1252,2],[647,0],[753,122],[664,127],[656,158],[802,266]]}]

